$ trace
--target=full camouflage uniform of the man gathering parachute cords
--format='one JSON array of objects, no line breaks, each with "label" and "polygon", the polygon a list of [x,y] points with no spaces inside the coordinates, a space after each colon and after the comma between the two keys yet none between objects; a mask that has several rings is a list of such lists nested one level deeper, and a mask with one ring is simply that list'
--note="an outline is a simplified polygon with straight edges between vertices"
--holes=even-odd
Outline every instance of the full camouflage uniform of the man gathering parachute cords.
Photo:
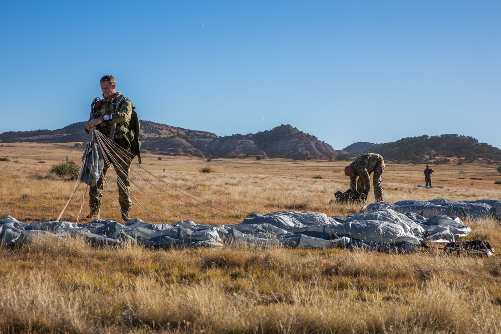
[{"label": "full camouflage uniform of the man gathering parachute cords", "polygon": [[[118,109],[116,107],[117,103]],[[109,137],[113,124],[116,124],[113,142],[120,146],[123,151],[118,152],[120,149],[115,148],[110,150],[110,152],[106,152],[105,149],[105,154],[107,160],[109,163],[113,164],[113,168],[117,173],[118,201],[122,210],[122,219],[128,219],[129,211],[132,206],[132,201],[130,199],[129,169],[133,155],[130,152],[130,143],[126,137],[126,133],[129,131],[132,103],[127,98],[123,97],[120,92],[113,94],[110,99],[100,100],[96,98],[92,103],[89,121],[93,118],[100,118],[105,114],[112,115],[112,119],[97,125],[97,130],[106,137]],[[97,214],[99,212],[100,202],[103,198],[103,182],[106,179],[106,171],[110,167],[109,163],[106,162],[105,159],[101,178],[97,181],[97,185],[90,187],[89,206],[91,214]]]}]

